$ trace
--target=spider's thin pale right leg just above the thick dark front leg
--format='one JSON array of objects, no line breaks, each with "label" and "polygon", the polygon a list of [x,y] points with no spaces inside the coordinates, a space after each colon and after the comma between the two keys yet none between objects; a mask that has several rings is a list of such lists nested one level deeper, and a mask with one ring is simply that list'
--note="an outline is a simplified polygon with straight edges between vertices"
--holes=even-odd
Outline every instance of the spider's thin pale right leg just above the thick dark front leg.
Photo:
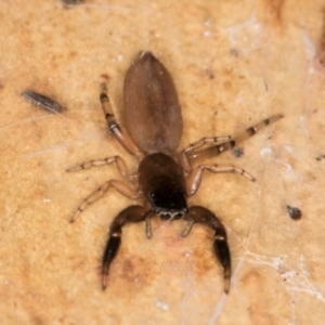
[{"label": "spider's thin pale right leg just above the thick dark front leg", "polygon": [[245,171],[244,169],[234,167],[234,166],[221,166],[221,165],[199,165],[198,167],[196,167],[193,172],[191,173],[188,181],[187,181],[187,195],[192,196],[194,195],[200,184],[202,178],[203,178],[203,172],[207,170],[213,173],[224,173],[224,172],[233,172],[233,173],[237,173],[240,174],[243,177],[245,177],[246,179],[248,179],[251,182],[255,182],[256,179],[248,173],[247,171]]}]

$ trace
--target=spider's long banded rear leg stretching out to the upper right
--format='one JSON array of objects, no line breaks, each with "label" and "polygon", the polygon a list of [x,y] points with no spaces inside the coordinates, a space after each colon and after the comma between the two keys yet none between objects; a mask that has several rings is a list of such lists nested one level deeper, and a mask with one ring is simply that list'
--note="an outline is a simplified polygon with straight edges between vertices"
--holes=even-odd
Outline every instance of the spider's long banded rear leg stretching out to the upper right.
[{"label": "spider's long banded rear leg stretching out to the upper right", "polygon": [[[282,114],[277,114],[274,115],[270,118],[263,119],[262,121],[260,121],[259,123],[255,125],[253,127],[249,127],[247,128],[244,132],[239,133],[237,136],[235,136],[234,139],[230,139],[229,141],[225,141],[221,144],[216,144],[203,150],[199,150],[200,146],[190,146],[185,150],[186,152],[186,156],[187,158],[191,159],[195,159],[195,158],[199,158],[199,157],[213,157],[213,156],[218,156],[221,153],[233,148],[234,146],[236,146],[239,142],[243,142],[244,140],[248,139],[249,136],[252,136],[253,134],[256,134],[257,132],[259,132],[260,130],[262,130],[263,128],[265,128],[266,126],[269,126],[270,123],[273,123],[277,120],[280,120],[281,118],[283,118]],[[213,139],[213,138],[212,138]],[[216,138],[217,140],[219,138]],[[196,143],[200,143],[200,141],[196,142]],[[210,143],[210,142],[208,142]],[[190,164],[190,161],[188,161]],[[190,164],[191,165],[191,164]]]}]

